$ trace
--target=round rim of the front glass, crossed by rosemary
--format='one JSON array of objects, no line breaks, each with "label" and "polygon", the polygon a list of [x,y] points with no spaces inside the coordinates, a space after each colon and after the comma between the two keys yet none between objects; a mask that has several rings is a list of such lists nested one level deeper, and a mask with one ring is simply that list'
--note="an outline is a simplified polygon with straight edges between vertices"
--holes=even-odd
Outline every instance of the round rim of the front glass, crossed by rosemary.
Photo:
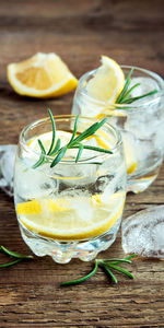
[{"label": "round rim of the front glass, crossed by rosemary", "polygon": [[[71,118],[75,118],[77,115],[54,115],[54,118],[55,118],[55,121],[57,120],[63,120],[63,119],[71,119]],[[99,119],[96,119],[96,118],[92,118],[92,117],[86,117],[86,116],[79,116],[79,118],[81,119],[86,119],[87,121],[91,120],[91,121],[99,121]],[[37,151],[34,151],[28,144],[27,144],[27,141],[25,140],[25,133],[31,129],[31,128],[35,128],[36,126],[40,125],[40,124],[44,124],[44,122],[51,122],[50,120],[50,117],[46,117],[46,118],[42,118],[42,119],[37,119],[37,120],[34,120],[32,121],[30,125],[25,126],[23,128],[23,130],[21,131],[20,133],[20,138],[19,138],[19,143],[21,144],[21,147],[28,153],[32,153],[33,155],[37,155],[37,156],[40,156],[40,152],[38,153]],[[103,129],[104,127],[109,128],[110,130],[113,130],[113,132],[115,133],[116,136],[116,144],[114,148],[112,148],[112,152],[113,154],[116,153],[120,147],[120,144],[122,144],[122,139],[121,139],[121,134],[120,134],[120,131],[114,127],[113,125],[110,125],[108,121],[106,121],[104,124],[104,126],[101,127],[101,129]],[[92,156],[92,157],[86,157],[84,160],[79,160],[78,163],[74,162],[74,160],[61,160],[60,161],[60,164],[65,164],[65,165],[82,165],[82,164],[86,164],[89,161],[92,161],[92,160],[101,160],[101,159],[106,159],[113,154],[109,154],[109,153],[99,153],[95,156]],[[49,159],[49,160],[54,160],[55,157],[54,156],[49,156],[49,155],[45,155],[46,159]],[[94,164],[94,162],[90,162],[91,164]],[[102,164],[102,163],[101,163]]]}]

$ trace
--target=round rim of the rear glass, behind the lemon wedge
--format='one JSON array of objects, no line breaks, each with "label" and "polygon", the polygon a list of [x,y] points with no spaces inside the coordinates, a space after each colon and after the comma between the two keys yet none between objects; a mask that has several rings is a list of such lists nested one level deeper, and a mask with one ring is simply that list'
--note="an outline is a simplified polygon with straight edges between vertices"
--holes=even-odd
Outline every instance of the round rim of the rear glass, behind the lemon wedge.
[{"label": "round rim of the rear glass, behind the lemon wedge", "polygon": [[[82,87],[82,83],[86,80],[86,78],[89,75],[93,75],[95,74],[95,72],[98,70],[98,68],[94,69],[94,70],[91,70],[91,71],[87,71],[86,73],[84,73],[80,80],[79,80],[79,84],[78,84],[78,89],[81,94],[83,96],[85,96],[86,98],[89,98],[91,102],[97,104],[97,105],[103,105],[104,107],[109,107],[109,108],[106,108],[106,109],[109,109],[110,112],[112,110],[121,110],[121,113],[127,113],[127,109],[128,112],[133,112],[133,109],[136,108],[140,108],[141,107],[144,107],[144,106],[149,106],[149,105],[152,105],[153,103],[155,103],[157,99],[161,98],[161,96],[164,95],[164,80],[162,79],[162,77],[160,77],[157,73],[153,72],[153,71],[150,71],[150,70],[147,70],[147,69],[143,69],[143,68],[140,68],[140,67],[137,67],[137,66],[127,66],[127,65],[120,65],[121,69],[131,69],[133,68],[133,71],[134,70],[138,70],[138,71],[141,71],[148,75],[150,75],[150,78],[153,78],[153,80],[156,80],[161,86],[160,90],[157,90],[157,92],[154,94],[153,98],[152,99],[149,99],[149,101],[145,101],[144,98],[141,101],[141,103],[139,104],[117,104],[117,103],[110,103],[110,102],[103,102],[103,101],[98,101],[90,95],[86,94],[86,92],[83,90]],[[116,108],[117,106],[117,108]],[[120,107],[120,108],[119,108]],[[126,108],[125,108],[126,107]],[[128,108],[127,108],[128,107]],[[105,109],[105,108],[104,108]]]}]

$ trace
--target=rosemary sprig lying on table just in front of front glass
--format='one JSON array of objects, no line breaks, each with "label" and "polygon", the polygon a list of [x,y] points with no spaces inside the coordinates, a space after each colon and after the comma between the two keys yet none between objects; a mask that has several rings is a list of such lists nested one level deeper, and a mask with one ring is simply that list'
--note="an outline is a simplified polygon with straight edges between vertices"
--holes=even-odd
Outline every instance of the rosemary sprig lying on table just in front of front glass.
[{"label": "rosemary sprig lying on table just in front of front glass", "polygon": [[61,282],[61,286],[66,286],[66,285],[73,285],[73,284],[79,284],[79,283],[82,283],[84,282],[85,280],[90,279],[92,276],[94,276],[98,269],[98,266],[102,267],[104,269],[104,271],[106,272],[106,274],[110,278],[110,280],[114,282],[114,283],[117,283],[117,278],[115,277],[115,274],[112,272],[112,270],[115,270],[115,271],[118,271],[122,274],[126,274],[127,277],[133,279],[133,274],[127,270],[125,270],[124,268],[117,266],[117,263],[132,263],[132,261],[130,260],[131,258],[136,257],[137,254],[132,254],[128,257],[126,257],[125,259],[117,259],[117,258],[113,258],[113,259],[95,259],[94,260],[94,268],[93,270],[82,277],[82,278],[79,278],[77,280],[71,280],[71,281],[66,281],[66,282]]}]

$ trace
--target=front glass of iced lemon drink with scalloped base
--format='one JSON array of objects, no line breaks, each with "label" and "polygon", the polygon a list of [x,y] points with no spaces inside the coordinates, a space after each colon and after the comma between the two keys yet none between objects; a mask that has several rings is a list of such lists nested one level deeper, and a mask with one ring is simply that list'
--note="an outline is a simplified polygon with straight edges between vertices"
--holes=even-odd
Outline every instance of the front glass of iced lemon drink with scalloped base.
[{"label": "front glass of iced lemon drink with scalloped base", "polygon": [[[75,116],[57,116],[56,137],[69,142]],[[97,120],[80,117],[77,136]],[[54,167],[54,157],[36,167],[51,140],[49,118],[32,122],[20,136],[14,173],[14,202],[24,242],[37,256],[49,255],[60,263],[77,257],[89,261],[115,241],[126,198],[126,165],[120,132],[105,122],[83,144],[112,153],[67,150]]]}]

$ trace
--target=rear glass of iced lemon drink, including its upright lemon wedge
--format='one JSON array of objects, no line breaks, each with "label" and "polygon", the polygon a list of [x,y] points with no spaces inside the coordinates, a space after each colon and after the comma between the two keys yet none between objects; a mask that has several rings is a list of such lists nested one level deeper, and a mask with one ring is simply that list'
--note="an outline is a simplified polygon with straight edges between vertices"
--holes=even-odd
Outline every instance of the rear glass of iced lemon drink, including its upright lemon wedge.
[{"label": "rear glass of iced lemon drink, including its upright lemon wedge", "polygon": [[[119,67],[103,57],[102,67],[84,74],[74,95],[72,114],[87,117],[108,117],[120,129],[124,140],[128,173],[128,190],[143,191],[157,176],[163,161],[164,139],[164,86],[155,73],[134,68],[131,75],[130,97],[133,103],[118,104],[131,67]],[[152,96],[143,94],[156,90]]]}]

